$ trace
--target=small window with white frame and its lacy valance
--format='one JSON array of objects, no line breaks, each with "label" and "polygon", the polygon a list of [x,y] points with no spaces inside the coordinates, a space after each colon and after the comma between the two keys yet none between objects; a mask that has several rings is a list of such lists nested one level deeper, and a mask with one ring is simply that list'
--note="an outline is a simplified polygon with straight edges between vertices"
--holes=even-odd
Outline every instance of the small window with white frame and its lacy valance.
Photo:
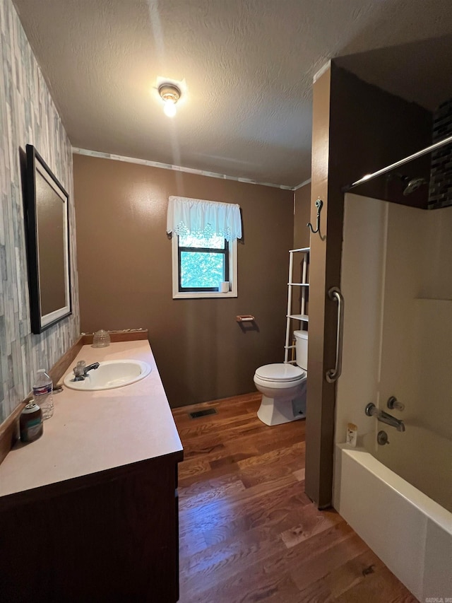
[{"label": "small window with white frame and its lacy valance", "polygon": [[167,231],[173,298],[237,297],[238,205],[170,197]]}]

